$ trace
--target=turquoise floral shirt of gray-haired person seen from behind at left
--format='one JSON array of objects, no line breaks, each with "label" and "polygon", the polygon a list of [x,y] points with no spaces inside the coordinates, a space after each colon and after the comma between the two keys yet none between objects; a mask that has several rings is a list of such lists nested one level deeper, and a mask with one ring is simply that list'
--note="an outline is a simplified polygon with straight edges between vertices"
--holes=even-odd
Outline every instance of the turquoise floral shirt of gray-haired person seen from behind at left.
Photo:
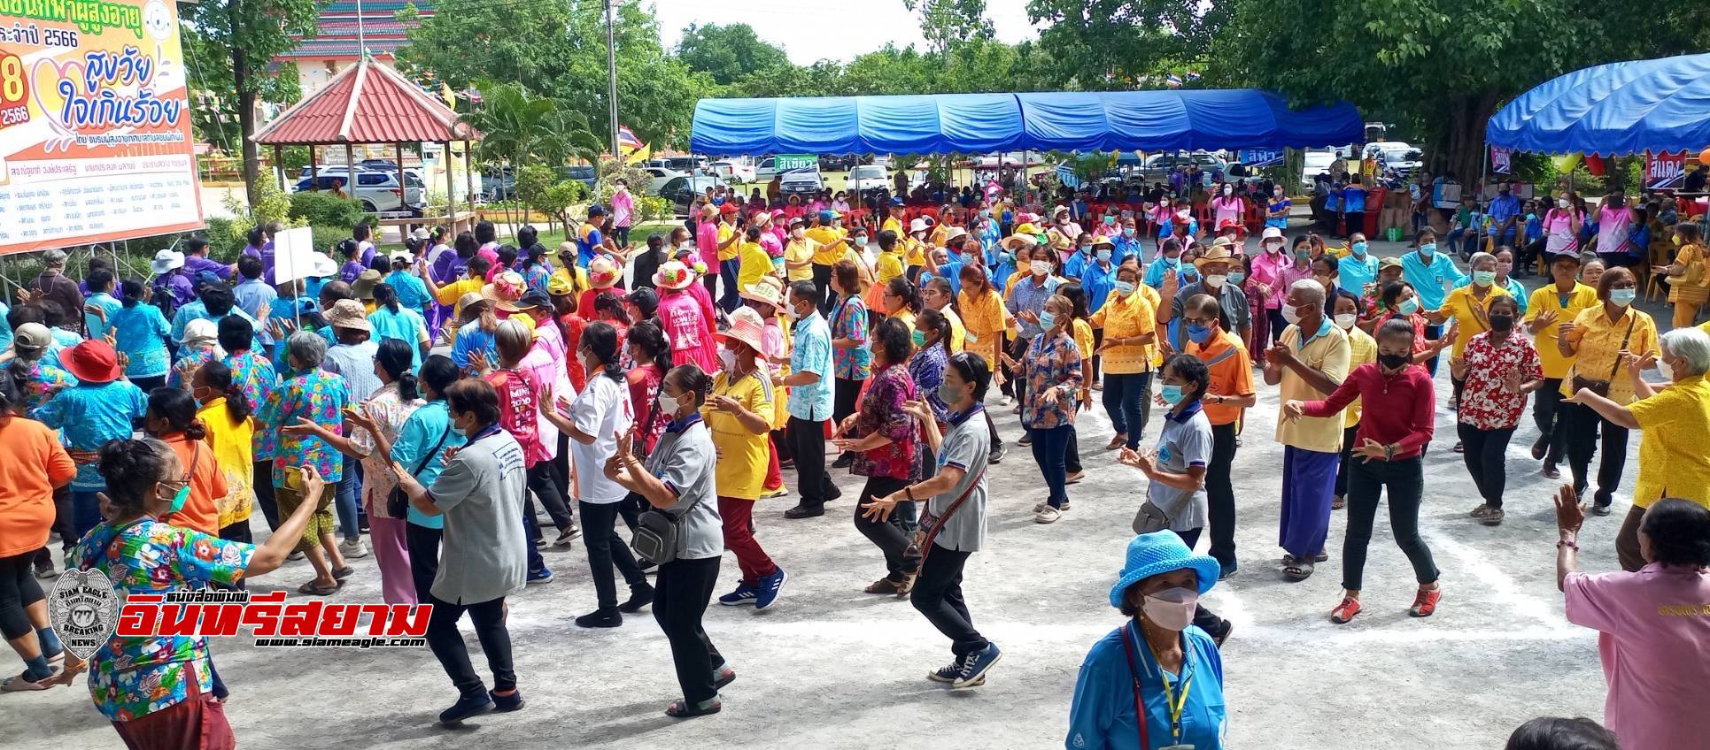
[{"label": "turquoise floral shirt of gray-haired person seen from behind at left", "polygon": [[298,417],[342,434],[344,431],[344,379],[320,367],[286,378],[262,405],[262,429],[275,432],[274,485],[286,483],[286,473],[310,465],[327,483],[344,477],[344,456],[315,436],[277,434],[279,427],[296,424]]}]

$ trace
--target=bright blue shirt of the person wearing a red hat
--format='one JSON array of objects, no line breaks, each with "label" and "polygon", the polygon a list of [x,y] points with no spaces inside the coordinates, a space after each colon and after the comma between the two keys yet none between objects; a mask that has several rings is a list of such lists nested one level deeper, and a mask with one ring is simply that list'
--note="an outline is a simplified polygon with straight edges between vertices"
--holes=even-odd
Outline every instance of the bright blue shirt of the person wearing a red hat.
[{"label": "bright blue shirt of the person wearing a red hat", "polygon": [[[159,316],[159,308],[149,308]],[[164,326],[164,318],[161,323]],[[132,420],[142,417],[147,408],[149,400],[142,388],[130,384],[130,381],[79,383],[77,388],[55,393],[48,403],[29,412],[29,419],[60,431],[60,442],[70,451],[96,451],[108,441],[130,439]],[[99,463],[77,465],[72,489],[77,492],[104,490],[106,480],[101,478],[97,466]]]}]

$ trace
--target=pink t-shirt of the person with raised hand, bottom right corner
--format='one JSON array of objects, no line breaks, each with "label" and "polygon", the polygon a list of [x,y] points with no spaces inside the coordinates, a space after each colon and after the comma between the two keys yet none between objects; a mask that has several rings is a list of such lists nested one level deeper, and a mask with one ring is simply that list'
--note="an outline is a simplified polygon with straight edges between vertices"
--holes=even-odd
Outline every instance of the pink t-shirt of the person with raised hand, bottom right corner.
[{"label": "pink t-shirt of the person with raised hand, bottom right corner", "polygon": [[1710,574],[1650,564],[1570,572],[1568,622],[1599,630],[1604,726],[1623,750],[1705,747],[1710,738]]}]

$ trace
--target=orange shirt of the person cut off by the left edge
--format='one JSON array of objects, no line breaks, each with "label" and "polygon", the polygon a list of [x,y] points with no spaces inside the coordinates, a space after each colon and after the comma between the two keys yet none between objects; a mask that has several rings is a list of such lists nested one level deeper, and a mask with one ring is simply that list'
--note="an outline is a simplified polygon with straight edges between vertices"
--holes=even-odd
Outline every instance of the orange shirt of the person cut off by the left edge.
[{"label": "orange shirt of the person cut off by the left edge", "polygon": [[0,422],[0,557],[34,552],[53,526],[53,489],[77,475],[77,465],[48,425],[24,417]]}]

